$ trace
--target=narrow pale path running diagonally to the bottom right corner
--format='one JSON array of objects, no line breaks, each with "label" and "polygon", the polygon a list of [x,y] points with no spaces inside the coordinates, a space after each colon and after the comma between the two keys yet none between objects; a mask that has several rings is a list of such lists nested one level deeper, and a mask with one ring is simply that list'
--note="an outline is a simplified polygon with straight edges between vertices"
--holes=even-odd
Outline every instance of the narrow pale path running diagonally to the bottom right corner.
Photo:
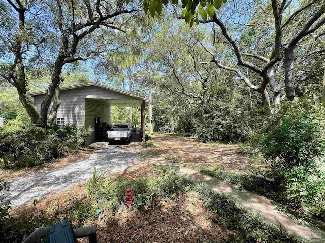
[{"label": "narrow pale path running diagonally to the bottom right corner", "polygon": [[[164,157],[151,158],[150,161],[151,163],[161,166],[176,165],[171,164],[170,161]],[[211,176],[204,175],[201,172],[186,167],[180,167],[179,174],[187,175],[194,181],[208,184],[214,191],[228,195],[239,205],[251,209],[252,212],[261,214],[267,221],[277,226],[281,226],[288,232],[294,233],[305,240],[325,242],[325,232],[320,228],[310,225],[305,221],[299,223],[297,220],[278,211],[276,207],[277,204],[263,196],[241,190],[235,185],[217,180]]]}]

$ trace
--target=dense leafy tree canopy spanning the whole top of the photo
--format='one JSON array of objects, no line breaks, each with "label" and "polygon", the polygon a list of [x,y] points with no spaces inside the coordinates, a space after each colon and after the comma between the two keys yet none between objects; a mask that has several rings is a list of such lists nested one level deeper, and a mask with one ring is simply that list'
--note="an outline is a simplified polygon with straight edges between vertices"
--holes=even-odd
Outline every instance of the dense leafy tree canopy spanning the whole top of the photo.
[{"label": "dense leafy tree canopy spanning the whole top of the photo", "polygon": [[[0,7],[2,90],[17,94],[41,126],[55,118],[60,85],[89,82],[83,69],[93,69],[96,82],[151,99],[149,124],[152,118],[156,130],[175,127],[221,140],[248,139],[296,96],[321,99],[320,0],[8,1]],[[47,93],[38,114],[27,93],[40,89]]]}]

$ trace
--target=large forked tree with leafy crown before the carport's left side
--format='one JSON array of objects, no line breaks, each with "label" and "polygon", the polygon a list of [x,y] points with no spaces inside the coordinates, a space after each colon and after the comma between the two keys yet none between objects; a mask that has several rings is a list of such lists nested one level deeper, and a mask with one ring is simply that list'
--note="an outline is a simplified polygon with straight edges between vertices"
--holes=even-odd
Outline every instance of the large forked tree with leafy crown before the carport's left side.
[{"label": "large forked tree with leafy crown before the carport's left side", "polygon": [[[88,60],[118,48],[116,39],[134,14],[123,1],[45,1],[1,3],[0,39],[5,62],[1,77],[12,84],[33,123],[52,124],[60,105],[59,83],[65,64]],[[51,68],[41,113],[27,97],[26,70],[36,65]],[[48,109],[55,94],[55,102]]]}]

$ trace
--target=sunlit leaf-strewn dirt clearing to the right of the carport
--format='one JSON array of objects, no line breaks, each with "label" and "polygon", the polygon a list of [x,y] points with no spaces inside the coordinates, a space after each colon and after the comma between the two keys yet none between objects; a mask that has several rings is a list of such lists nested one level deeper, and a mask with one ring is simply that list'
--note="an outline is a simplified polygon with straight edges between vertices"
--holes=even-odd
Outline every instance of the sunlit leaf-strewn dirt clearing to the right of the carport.
[{"label": "sunlit leaf-strewn dirt clearing to the right of the carport", "polygon": [[143,148],[139,144],[126,145],[143,159],[160,156],[183,167],[218,167],[226,171],[243,172],[250,166],[249,157],[240,153],[238,145],[202,143],[193,137],[154,134],[154,146]]}]

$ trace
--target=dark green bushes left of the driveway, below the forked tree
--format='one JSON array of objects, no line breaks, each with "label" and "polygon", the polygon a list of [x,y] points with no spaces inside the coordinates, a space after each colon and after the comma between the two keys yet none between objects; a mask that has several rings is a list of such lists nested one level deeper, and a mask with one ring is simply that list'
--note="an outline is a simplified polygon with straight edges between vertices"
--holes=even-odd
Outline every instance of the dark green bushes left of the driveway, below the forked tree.
[{"label": "dark green bushes left of the driveway, below the forked tree", "polygon": [[64,129],[31,126],[0,133],[0,167],[20,169],[41,166],[67,154],[69,150],[79,149],[92,132],[92,128],[78,129],[68,125]]}]

